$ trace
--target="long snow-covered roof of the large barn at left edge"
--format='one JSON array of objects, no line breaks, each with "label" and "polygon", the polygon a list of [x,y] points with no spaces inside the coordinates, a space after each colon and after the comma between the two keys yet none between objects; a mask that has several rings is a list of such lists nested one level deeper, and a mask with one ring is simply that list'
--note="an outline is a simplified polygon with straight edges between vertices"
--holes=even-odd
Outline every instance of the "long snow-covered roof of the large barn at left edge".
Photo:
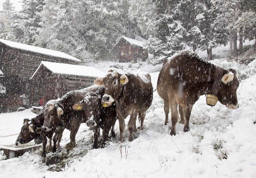
[{"label": "long snow-covered roof of the large barn at left edge", "polygon": [[59,58],[65,58],[65,59],[81,62],[79,59],[60,51],[54,51],[50,49],[40,48],[36,46],[31,46],[28,44],[22,44],[22,43],[17,43],[13,41],[3,40],[3,39],[0,39],[0,42],[6,44],[7,46],[17,48],[17,49],[32,51],[40,54],[46,54],[46,55],[51,55]]}]

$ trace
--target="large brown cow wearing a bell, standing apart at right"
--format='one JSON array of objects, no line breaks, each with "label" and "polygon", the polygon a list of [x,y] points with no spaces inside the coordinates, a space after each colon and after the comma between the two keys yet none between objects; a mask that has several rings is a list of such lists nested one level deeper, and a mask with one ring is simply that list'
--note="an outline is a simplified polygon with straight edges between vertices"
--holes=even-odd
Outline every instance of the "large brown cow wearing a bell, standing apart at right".
[{"label": "large brown cow wearing a bell, standing apart at right", "polygon": [[199,96],[215,94],[218,101],[229,109],[237,109],[236,71],[224,70],[200,58],[191,50],[182,50],[165,59],[157,80],[157,92],[164,100],[165,125],[171,110],[172,130],[176,135],[178,105],[184,132],[189,131],[189,117]]}]

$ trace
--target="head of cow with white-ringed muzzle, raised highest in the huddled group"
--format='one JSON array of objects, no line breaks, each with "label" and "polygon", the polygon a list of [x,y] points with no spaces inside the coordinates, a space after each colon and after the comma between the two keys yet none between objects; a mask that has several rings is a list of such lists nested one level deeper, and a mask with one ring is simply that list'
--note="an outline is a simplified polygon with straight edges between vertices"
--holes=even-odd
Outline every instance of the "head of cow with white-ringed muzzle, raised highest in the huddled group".
[{"label": "head of cow with white-ringed muzzle, raised highest in the huddled group", "polygon": [[116,101],[122,93],[124,85],[128,82],[126,75],[113,70],[109,70],[105,77],[99,77],[94,80],[94,84],[105,86],[105,94],[102,97],[105,103]]}]

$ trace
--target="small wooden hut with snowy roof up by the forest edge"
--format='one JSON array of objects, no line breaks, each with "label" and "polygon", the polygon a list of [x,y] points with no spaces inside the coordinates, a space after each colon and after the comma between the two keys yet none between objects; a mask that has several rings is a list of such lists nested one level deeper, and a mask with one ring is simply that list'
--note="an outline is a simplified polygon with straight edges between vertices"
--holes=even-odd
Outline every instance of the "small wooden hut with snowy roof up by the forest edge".
[{"label": "small wooden hut with snowy roof up by the forest edge", "polygon": [[137,62],[148,59],[147,50],[143,49],[143,42],[122,36],[112,48],[118,51],[119,62]]}]

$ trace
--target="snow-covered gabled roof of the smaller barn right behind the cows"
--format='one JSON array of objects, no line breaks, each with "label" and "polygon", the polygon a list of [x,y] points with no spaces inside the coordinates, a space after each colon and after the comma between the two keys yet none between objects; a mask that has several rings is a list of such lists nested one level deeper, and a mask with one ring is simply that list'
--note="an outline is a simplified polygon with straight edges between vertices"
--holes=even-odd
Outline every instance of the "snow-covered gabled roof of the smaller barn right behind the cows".
[{"label": "snow-covered gabled roof of the smaller barn right behind the cows", "polygon": [[63,64],[57,62],[46,62],[42,61],[35,73],[31,76],[31,79],[39,70],[41,65],[44,65],[47,69],[55,74],[66,74],[66,75],[77,75],[77,76],[88,76],[88,77],[101,77],[105,73],[95,69],[94,67],[88,67],[83,65]]}]

